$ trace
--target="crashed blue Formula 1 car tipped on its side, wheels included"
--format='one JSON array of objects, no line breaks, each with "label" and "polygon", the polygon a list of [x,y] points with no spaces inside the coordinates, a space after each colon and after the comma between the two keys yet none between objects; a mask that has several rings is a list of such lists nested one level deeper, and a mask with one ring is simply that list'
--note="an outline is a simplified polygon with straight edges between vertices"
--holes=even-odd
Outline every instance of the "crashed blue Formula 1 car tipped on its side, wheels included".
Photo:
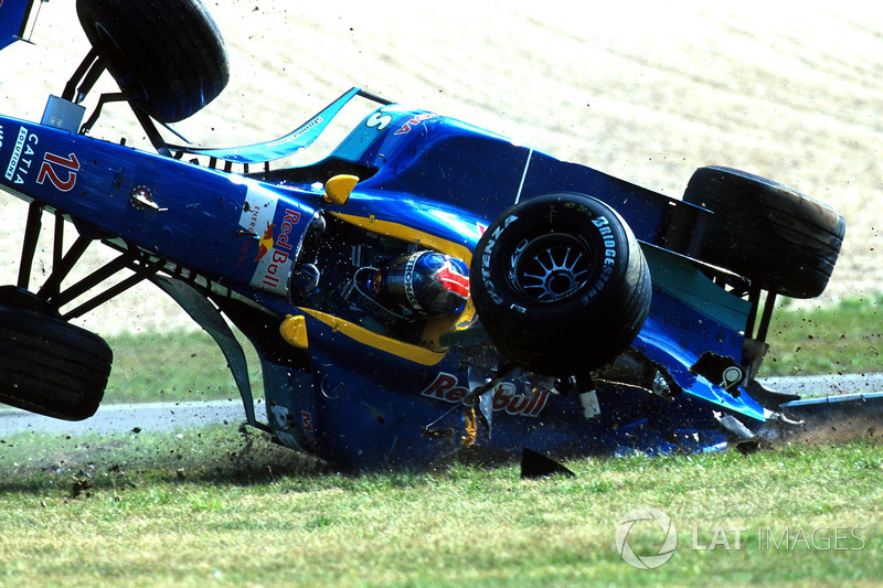
[{"label": "crashed blue Formula 1 car tipped on its side, wheels included", "polygon": [[[6,0],[4,44],[32,4]],[[173,145],[169,125],[228,79],[203,4],[77,13],[93,49],[64,93],[40,122],[0,116],[0,184],[30,203],[18,284],[0,288],[3,403],[92,416],[111,351],[70,321],[149,280],[217,341],[249,425],[342,466],[713,450],[800,405],[755,376],[776,297],[829,281],[831,207],[722,167],[671,199],[359,88],[273,141]],[[120,92],[84,122],[103,72]],[[273,165],[353,100],[373,109],[329,157]],[[109,101],[157,153],[91,136]],[[32,286],[44,215],[53,267]],[[118,256],[67,284],[94,242]],[[266,420],[230,323],[260,359]]]}]

